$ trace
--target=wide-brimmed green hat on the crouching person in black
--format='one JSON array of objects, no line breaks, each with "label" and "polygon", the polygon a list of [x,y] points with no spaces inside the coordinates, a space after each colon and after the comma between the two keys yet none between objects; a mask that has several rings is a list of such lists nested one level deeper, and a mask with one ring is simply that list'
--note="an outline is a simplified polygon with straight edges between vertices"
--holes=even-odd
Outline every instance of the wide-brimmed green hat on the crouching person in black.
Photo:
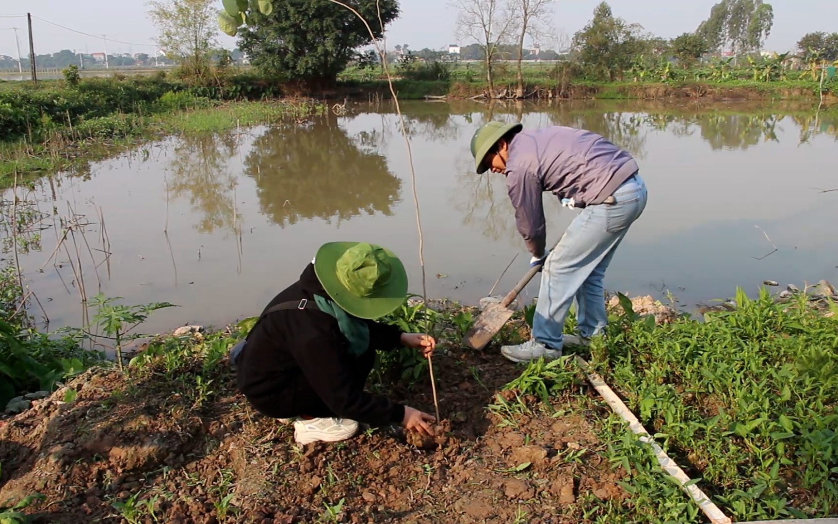
[{"label": "wide-brimmed green hat on the crouching person in black", "polygon": [[314,258],[328,296],[359,319],[391,314],[407,298],[407,272],[396,255],[367,242],[329,242]]}]

